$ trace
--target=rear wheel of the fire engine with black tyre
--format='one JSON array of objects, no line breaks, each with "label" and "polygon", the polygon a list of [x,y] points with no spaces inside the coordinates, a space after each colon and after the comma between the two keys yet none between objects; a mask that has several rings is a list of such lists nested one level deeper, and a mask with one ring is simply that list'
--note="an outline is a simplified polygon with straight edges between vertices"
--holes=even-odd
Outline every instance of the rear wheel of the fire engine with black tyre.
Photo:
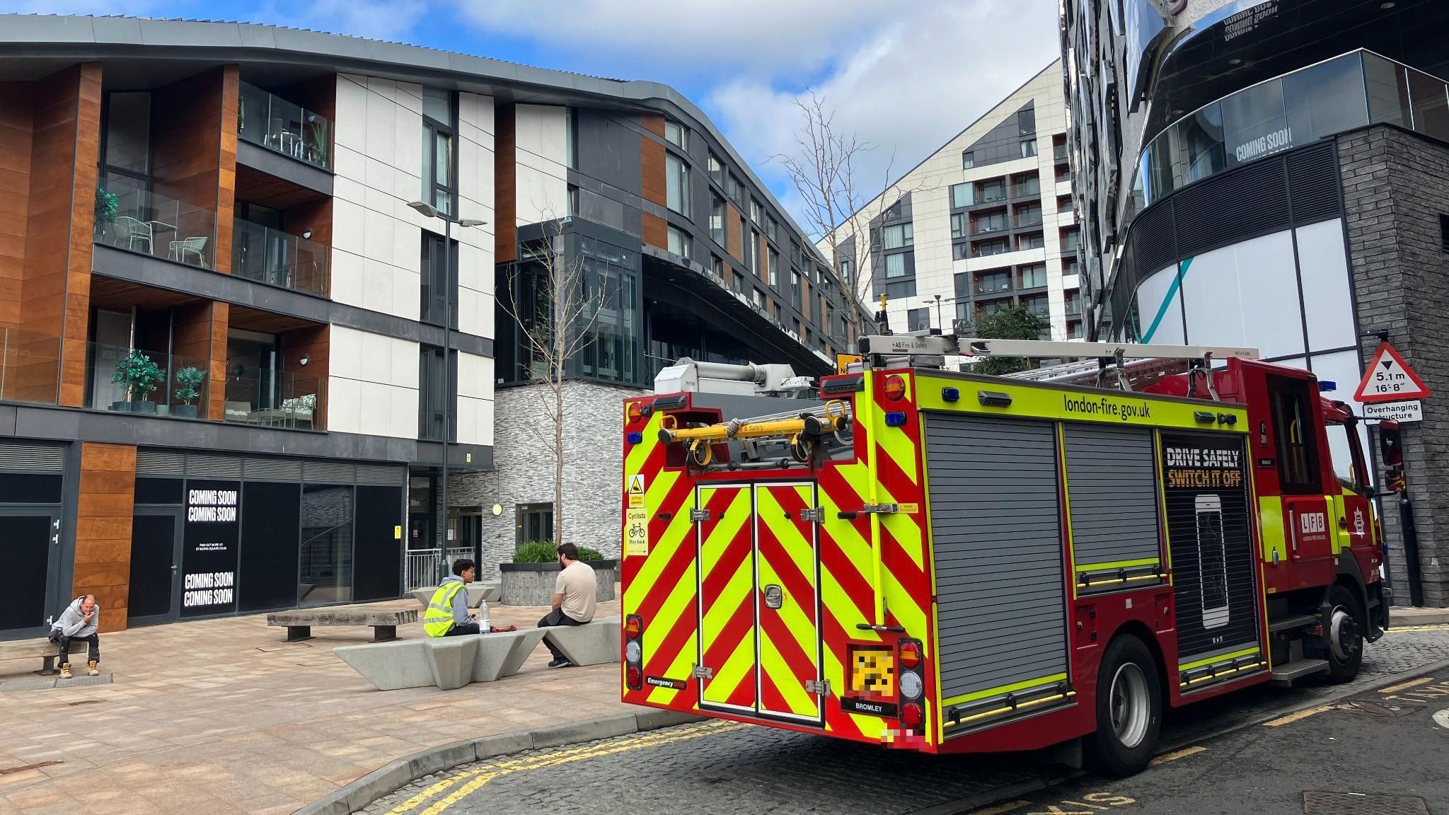
[{"label": "rear wheel of the fire engine with black tyre", "polygon": [[1152,760],[1162,729],[1158,663],[1142,640],[1117,637],[1097,670],[1097,732],[1087,760],[1103,776],[1132,776]]}]

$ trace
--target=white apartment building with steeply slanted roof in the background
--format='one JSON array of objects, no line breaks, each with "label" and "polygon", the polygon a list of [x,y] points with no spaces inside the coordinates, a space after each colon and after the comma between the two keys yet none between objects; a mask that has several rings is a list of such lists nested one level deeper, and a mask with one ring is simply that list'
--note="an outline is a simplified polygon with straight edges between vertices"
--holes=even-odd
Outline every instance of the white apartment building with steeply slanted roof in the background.
[{"label": "white apartment building with steeply slanted roof in the background", "polygon": [[862,206],[833,244],[845,268],[862,267],[862,299],[887,296],[894,331],[951,331],[1020,305],[1048,319],[1051,338],[1078,338],[1071,191],[1056,62]]}]

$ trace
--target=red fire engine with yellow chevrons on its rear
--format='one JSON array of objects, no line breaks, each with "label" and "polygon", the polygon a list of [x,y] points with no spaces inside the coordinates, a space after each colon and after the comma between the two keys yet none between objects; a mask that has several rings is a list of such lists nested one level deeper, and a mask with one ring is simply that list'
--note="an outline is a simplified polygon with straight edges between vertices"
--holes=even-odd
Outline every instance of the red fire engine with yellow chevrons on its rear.
[{"label": "red fire engine with yellow chevrons on its rear", "polygon": [[1388,626],[1358,419],[1311,373],[1242,348],[861,349],[810,392],[681,360],[626,402],[626,702],[926,753],[1082,738],[1124,774],[1165,708],[1346,682]]}]

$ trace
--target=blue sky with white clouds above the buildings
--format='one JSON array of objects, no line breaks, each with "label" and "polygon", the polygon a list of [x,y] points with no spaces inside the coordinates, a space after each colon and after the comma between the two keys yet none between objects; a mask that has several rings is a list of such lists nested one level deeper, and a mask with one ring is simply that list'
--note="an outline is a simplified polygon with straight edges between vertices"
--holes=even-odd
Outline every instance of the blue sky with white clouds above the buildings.
[{"label": "blue sky with white clouds above the buildings", "polygon": [[[0,0],[26,13],[245,20],[652,80],[694,100],[796,212],[778,160],[824,97],[875,145],[861,177],[914,167],[1058,54],[1058,0]],[[804,219],[796,218],[801,225]]]}]

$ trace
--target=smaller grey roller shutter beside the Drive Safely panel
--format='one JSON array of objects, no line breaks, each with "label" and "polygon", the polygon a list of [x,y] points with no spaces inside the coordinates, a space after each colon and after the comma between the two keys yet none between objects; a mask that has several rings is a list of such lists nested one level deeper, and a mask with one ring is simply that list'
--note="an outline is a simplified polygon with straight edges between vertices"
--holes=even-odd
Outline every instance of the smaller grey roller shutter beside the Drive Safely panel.
[{"label": "smaller grey roller shutter beside the Drive Safely panel", "polygon": [[1068,425],[1065,432],[1077,570],[1159,557],[1152,431]]}]

